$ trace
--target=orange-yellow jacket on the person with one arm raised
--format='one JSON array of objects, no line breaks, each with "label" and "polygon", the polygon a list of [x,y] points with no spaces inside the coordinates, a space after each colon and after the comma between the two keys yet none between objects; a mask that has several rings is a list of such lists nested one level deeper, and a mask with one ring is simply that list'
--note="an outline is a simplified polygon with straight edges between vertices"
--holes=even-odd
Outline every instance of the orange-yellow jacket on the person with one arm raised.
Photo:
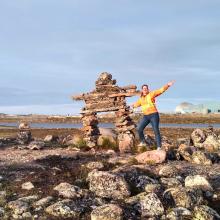
[{"label": "orange-yellow jacket on the person with one arm raised", "polygon": [[164,93],[168,88],[169,86],[165,85],[160,89],[149,92],[146,96],[141,96],[134,104],[134,108],[141,106],[144,115],[158,112],[155,104],[155,98]]}]

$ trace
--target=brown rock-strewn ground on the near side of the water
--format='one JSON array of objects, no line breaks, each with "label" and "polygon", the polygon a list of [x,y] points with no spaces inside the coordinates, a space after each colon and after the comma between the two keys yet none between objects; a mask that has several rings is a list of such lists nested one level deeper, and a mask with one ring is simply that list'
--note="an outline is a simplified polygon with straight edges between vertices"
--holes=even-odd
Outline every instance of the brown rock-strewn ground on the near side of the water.
[{"label": "brown rock-strewn ground on the near side of the water", "polygon": [[219,130],[162,129],[157,151],[147,129],[124,155],[112,131],[96,149],[77,129],[16,132],[0,138],[0,219],[220,219]]}]

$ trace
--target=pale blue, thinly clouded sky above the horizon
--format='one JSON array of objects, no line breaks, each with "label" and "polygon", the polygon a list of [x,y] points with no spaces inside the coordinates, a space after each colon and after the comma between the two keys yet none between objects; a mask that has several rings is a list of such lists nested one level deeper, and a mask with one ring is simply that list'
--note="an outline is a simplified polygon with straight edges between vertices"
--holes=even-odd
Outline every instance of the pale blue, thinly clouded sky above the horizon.
[{"label": "pale blue, thinly clouded sky above the horizon", "polygon": [[78,114],[71,95],[101,72],[151,90],[176,80],[161,112],[219,101],[219,11],[219,0],[1,0],[0,113]]}]

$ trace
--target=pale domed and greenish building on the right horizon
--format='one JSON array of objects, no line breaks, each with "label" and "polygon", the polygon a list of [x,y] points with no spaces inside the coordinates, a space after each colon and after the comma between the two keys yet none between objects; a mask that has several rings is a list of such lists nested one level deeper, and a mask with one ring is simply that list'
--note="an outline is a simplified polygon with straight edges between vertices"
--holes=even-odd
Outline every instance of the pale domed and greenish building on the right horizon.
[{"label": "pale domed and greenish building on the right horizon", "polygon": [[206,102],[203,104],[194,105],[192,103],[183,102],[179,104],[176,109],[176,113],[186,114],[186,113],[220,113],[220,102]]}]

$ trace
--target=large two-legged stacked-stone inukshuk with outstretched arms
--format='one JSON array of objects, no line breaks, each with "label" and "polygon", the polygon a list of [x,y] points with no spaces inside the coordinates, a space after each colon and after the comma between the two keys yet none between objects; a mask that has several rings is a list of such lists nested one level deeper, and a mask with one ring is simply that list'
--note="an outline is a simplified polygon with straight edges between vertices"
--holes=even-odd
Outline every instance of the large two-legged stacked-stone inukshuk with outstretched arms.
[{"label": "large two-legged stacked-stone inukshuk with outstretched arms", "polygon": [[115,112],[115,126],[118,133],[118,144],[121,152],[131,151],[134,145],[135,123],[132,121],[130,107],[126,97],[138,94],[135,85],[119,87],[109,73],[101,73],[96,81],[96,88],[90,93],[73,96],[74,100],[85,101],[81,111],[84,140],[89,147],[95,147],[100,136],[97,113]]}]

